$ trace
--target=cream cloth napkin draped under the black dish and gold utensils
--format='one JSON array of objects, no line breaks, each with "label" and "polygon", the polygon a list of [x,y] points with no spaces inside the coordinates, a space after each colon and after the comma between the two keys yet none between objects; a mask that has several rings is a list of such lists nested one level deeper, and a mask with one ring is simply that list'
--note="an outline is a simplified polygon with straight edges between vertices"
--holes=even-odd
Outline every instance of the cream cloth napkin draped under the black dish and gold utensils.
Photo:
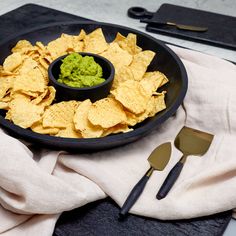
[{"label": "cream cloth napkin draped under the black dish and gold utensils", "polygon": [[189,156],[169,195],[155,196],[181,157],[172,149],[131,209],[158,219],[185,219],[236,208],[236,66],[171,46],[184,63],[189,88],[183,106],[151,134],[132,144],[93,154],[69,154],[23,144],[0,130],[0,232],[51,235],[63,211],[113,198],[122,205],[149,168],[147,157],[187,125],[215,134],[203,157]]}]

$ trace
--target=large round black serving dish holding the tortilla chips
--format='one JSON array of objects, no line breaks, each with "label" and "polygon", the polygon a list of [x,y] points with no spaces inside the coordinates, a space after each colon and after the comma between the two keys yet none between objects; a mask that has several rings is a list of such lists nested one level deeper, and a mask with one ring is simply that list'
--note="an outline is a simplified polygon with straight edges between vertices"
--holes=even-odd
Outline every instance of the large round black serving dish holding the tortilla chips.
[{"label": "large round black serving dish holding the tortilla chips", "polygon": [[184,99],[188,84],[187,74],[182,62],[178,56],[161,41],[145,33],[124,26],[99,22],[67,22],[37,27],[1,42],[0,64],[3,63],[4,59],[9,54],[11,54],[11,48],[21,39],[29,40],[31,43],[41,41],[44,44],[47,44],[49,41],[59,37],[61,33],[78,34],[81,29],[84,29],[87,33],[89,33],[98,27],[102,28],[108,42],[114,40],[117,32],[120,32],[123,35],[134,33],[138,38],[138,46],[144,50],[149,49],[157,53],[148,67],[148,71],[159,70],[166,74],[169,78],[169,83],[162,88],[162,90],[167,90],[167,109],[158,113],[155,117],[146,119],[142,123],[136,125],[134,131],[92,139],[60,138],[37,134],[29,129],[23,129],[17,125],[14,125],[4,119],[5,111],[0,110],[0,125],[5,128],[10,135],[50,148],[95,151],[136,141],[151,132],[155,127],[159,126],[175,113]]}]

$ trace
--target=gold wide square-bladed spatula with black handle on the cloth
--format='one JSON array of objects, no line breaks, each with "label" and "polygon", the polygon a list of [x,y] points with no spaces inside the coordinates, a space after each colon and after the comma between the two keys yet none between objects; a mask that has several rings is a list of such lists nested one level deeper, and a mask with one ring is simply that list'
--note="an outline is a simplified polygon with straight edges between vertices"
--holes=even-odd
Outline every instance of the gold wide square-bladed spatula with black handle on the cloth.
[{"label": "gold wide square-bladed spatula with black handle on the cloth", "polygon": [[180,175],[180,172],[184,166],[184,163],[188,155],[202,156],[209,149],[214,135],[192,129],[184,126],[175,138],[175,147],[179,149],[183,156],[171,169],[170,173],[166,177],[162,184],[156,198],[162,199],[166,197],[175,181]]}]

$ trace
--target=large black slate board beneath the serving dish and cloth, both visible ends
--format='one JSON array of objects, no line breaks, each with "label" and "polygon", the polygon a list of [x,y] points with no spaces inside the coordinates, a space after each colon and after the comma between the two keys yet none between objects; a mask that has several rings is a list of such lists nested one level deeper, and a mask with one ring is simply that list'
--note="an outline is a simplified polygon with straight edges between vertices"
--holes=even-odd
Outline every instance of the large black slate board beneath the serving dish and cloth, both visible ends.
[{"label": "large black slate board beneath the serving dish and cloth, both visible ends", "polygon": [[[125,14],[125,13],[124,13]],[[88,20],[46,7],[27,4],[0,16],[0,41],[15,32],[42,24],[71,20]],[[125,221],[118,221],[118,206],[110,199],[90,203],[73,211],[65,212],[59,218],[54,235],[222,235],[231,219],[231,211],[212,216],[181,220],[160,221],[130,215]]]}]

